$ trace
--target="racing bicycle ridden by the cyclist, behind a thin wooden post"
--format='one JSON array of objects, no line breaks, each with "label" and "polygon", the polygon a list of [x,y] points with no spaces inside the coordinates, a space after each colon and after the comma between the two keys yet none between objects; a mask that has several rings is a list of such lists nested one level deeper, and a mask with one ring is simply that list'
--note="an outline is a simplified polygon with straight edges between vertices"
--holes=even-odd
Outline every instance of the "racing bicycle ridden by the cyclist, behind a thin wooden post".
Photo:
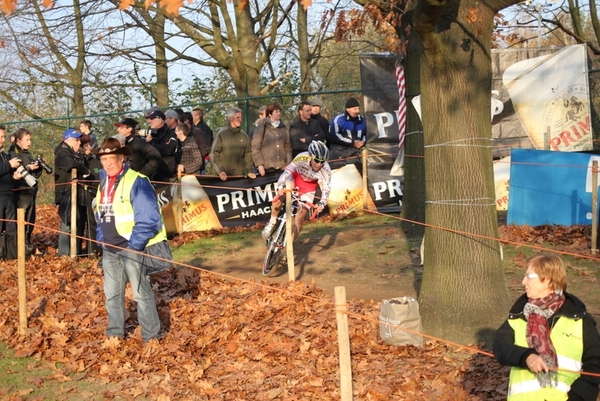
[{"label": "racing bicycle ridden by the cyclist, behind a thin wooden post", "polygon": [[[273,203],[279,200],[279,195],[273,198]],[[295,188],[292,191],[292,221],[294,216],[298,214],[301,210],[301,207],[307,207],[309,210],[313,210],[313,213],[310,215],[309,220],[313,220],[317,217],[317,206],[303,201],[300,199],[300,195],[298,194],[298,189]],[[277,264],[280,261],[285,260],[286,255],[286,243],[287,238],[285,235],[285,223],[286,223],[286,213],[285,207],[281,208],[279,212],[279,216],[277,216],[277,223],[275,223],[275,228],[271,232],[271,235],[266,239],[265,245],[267,246],[267,256],[265,256],[265,261],[263,262],[263,275],[271,276],[273,272],[275,272]]]}]

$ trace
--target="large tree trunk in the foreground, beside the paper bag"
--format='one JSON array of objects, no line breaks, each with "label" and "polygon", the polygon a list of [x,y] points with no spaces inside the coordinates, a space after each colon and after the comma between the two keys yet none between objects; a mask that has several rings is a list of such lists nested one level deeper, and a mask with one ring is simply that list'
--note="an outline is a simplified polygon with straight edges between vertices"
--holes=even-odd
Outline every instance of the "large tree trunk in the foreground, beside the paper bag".
[{"label": "large tree trunk in the foreground, beside the paper bag", "polygon": [[490,339],[510,297],[496,240],[491,148],[495,11],[475,1],[451,10],[456,4],[446,9],[445,2],[422,1],[415,21],[425,48],[421,90],[431,225],[419,298],[427,333],[472,343]]}]

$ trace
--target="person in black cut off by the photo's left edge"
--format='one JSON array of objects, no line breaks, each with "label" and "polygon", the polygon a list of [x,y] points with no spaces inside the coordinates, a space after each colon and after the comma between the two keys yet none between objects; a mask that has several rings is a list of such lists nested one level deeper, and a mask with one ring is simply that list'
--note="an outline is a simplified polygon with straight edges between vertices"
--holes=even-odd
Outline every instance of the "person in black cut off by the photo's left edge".
[{"label": "person in black cut off by the photo's left edge", "polygon": [[18,157],[10,158],[4,153],[6,141],[6,127],[0,125],[0,233],[13,233],[16,238],[17,212],[13,203],[13,176],[15,169],[21,165]]}]

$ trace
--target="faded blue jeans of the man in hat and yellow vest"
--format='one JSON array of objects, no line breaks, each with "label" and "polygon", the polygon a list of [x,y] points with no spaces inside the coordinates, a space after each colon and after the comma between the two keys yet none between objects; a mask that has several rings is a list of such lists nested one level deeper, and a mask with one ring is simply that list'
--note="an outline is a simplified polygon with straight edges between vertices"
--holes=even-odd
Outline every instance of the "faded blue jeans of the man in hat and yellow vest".
[{"label": "faded blue jeans of the man in hat and yellow vest", "polygon": [[142,339],[148,341],[158,337],[160,321],[156,310],[154,292],[150,278],[142,275],[142,257],[139,253],[123,250],[112,252],[104,249],[102,268],[104,269],[104,295],[108,314],[108,337],[125,335],[125,285],[129,281],[133,299],[137,302],[138,322],[142,326]]}]

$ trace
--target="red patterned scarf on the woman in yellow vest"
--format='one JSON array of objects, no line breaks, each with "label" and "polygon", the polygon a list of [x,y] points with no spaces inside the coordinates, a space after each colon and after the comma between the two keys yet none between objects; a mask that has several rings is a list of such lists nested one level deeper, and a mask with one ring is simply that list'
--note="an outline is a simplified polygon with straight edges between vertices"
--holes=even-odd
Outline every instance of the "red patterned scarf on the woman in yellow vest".
[{"label": "red patterned scarf on the woman in yellow vest", "polygon": [[[529,299],[523,308],[523,313],[527,319],[527,329],[525,336],[527,345],[535,349],[538,355],[550,368],[558,367],[558,358],[556,350],[550,339],[550,327],[548,319],[560,309],[565,303],[565,296],[553,292],[544,298]],[[557,372],[549,370],[548,372],[539,372],[536,374],[541,387],[556,386],[558,383]]]}]

